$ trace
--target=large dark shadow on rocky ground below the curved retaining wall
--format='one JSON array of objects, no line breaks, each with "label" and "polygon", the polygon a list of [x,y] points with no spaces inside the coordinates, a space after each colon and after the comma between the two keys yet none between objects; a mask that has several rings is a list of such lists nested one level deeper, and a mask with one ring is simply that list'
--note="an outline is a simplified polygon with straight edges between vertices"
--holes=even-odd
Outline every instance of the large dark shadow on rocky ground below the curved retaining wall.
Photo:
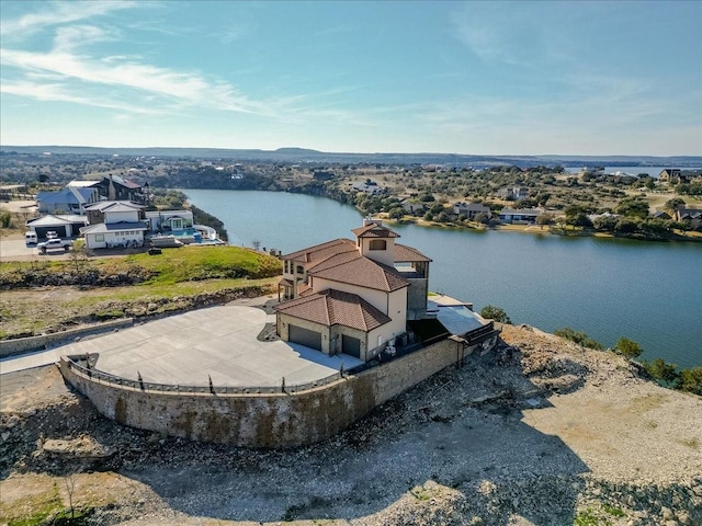
[{"label": "large dark shadow on rocky ground below the curved retaining wall", "polygon": [[[581,384],[553,385],[563,393]],[[519,351],[502,347],[466,357],[313,446],[248,450],[169,438],[151,451],[167,462],[125,458],[118,471],[176,511],[217,519],[362,523],[398,501],[421,508],[452,495],[466,523],[507,526],[518,515],[573,524],[589,469],[558,436],[522,420],[548,410],[553,392],[524,376]]]}]

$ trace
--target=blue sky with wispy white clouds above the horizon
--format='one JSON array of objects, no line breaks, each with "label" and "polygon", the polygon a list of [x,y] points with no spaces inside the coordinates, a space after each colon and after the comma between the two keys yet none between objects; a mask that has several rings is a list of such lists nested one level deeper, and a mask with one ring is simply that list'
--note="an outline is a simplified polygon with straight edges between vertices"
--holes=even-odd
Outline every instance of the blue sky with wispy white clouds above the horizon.
[{"label": "blue sky with wispy white clouds above the horizon", "polygon": [[0,0],[2,145],[702,155],[702,1]]}]

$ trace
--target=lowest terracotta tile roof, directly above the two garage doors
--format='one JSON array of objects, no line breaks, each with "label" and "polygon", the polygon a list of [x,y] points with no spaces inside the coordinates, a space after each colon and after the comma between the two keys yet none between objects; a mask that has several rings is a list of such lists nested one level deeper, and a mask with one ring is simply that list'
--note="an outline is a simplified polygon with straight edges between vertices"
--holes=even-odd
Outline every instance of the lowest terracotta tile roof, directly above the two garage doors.
[{"label": "lowest terracotta tile roof, directly above the two garage doors", "polygon": [[392,321],[360,296],[333,289],[286,301],[275,310],[327,327],[343,325],[365,332]]}]

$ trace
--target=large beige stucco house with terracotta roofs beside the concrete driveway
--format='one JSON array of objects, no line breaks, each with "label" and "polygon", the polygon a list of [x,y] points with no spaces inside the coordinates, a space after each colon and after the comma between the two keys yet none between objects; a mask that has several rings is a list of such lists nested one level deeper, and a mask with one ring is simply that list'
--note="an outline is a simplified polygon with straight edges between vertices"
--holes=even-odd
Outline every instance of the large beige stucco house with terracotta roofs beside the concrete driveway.
[{"label": "large beige stucco house with terracotta roofs beside the concrete driveway", "polygon": [[427,317],[431,260],[380,221],[353,233],[282,256],[283,341],[369,361],[407,333],[408,320]]}]

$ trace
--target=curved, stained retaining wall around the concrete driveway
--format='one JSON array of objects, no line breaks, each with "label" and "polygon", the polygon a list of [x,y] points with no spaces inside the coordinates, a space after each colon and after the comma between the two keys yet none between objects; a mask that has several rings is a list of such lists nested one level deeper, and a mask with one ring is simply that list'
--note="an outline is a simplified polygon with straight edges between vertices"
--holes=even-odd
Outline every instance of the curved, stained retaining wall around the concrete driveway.
[{"label": "curved, stained retaining wall around the concrete driveway", "polygon": [[444,341],[324,387],[274,395],[141,391],[99,382],[70,368],[66,358],[59,367],[98,411],[122,424],[193,441],[274,448],[328,438],[455,362],[456,344]]}]

